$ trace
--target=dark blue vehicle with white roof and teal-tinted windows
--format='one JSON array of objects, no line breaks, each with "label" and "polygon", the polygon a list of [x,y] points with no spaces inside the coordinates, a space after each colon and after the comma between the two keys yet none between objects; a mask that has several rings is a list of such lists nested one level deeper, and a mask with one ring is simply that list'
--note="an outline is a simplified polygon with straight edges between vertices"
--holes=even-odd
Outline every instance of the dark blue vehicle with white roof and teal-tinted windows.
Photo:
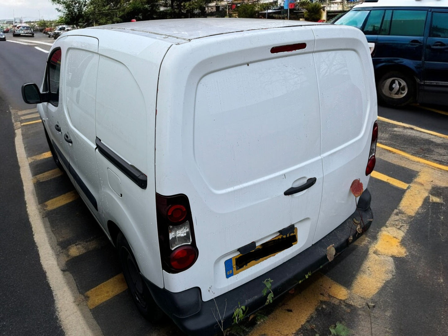
[{"label": "dark blue vehicle with white roof and teal-tinted windows", "polygon": [[332,23],[366,35],[379,101],[448,105],[448,1],[365,0]]}]

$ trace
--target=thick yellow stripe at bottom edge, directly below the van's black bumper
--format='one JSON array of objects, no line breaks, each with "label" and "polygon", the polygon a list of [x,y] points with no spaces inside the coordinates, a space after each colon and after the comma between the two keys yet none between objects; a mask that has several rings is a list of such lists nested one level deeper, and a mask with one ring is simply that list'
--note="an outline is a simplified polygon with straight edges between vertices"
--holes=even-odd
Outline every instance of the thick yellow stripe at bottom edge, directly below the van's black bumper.
[{"label": "thick yellow stripe at bottom edge, directly below the van's black bumper", "polygon": [[303,292],[298,292],[296,289],[296,293],[287,296],[282,304],[269,314],[269,319],[255,326],[249,336],[294,335],[313,314],[321,301],[328,301],[330,297],[340,300],[349,297],[349,292],[345,287],[327,276],[315,274],[312,277],[312,283]]}]

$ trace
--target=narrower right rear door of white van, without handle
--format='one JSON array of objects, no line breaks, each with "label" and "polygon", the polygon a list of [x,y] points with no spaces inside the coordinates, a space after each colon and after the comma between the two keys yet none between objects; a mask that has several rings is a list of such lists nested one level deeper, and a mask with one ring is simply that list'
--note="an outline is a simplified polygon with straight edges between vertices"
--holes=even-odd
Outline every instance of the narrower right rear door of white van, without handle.
[{"label": "narrower right rear door of white van, without handle", "polygon": [[[377,116],[375,79],[366,37],[349,26],[314,26],[319,85],[323,194],[314,242],[355,211],[354,179],[367,187],[366,165]],[[347,237],[348,238],[348,237]]]}]

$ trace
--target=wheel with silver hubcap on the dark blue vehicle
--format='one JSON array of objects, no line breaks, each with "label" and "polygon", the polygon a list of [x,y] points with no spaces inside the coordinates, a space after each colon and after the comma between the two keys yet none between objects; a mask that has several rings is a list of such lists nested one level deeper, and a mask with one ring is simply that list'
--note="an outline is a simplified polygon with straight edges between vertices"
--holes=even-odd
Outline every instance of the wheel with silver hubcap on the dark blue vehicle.
[{"label": "wheel with silver hubcap on the dark blue vehicle", "polygon": [[380,102],[399,107],[416,100],[417,85],[415,79],[407,73],[389,71],[379,78],[376,91]]}]

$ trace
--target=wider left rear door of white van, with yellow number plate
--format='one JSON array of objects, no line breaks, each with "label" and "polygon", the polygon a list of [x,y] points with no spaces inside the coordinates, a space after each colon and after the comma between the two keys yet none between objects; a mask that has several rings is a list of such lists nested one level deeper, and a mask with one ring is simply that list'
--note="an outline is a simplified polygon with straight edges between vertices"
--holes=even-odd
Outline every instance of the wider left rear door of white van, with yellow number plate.
[{"label": "wider left rear door of white van, with yellow number plate", "polygon": [[[303,44],[277,52],[278,41]],[[322,197],[313,50],[312,31],[295,27],[196,39],[168,51],[157,99],[156,191],[187,195],[198,247],[190,269],[164,272],[168,290],[199,286],[209,300],[311,246]],[[291,225],[292,247],[236,267],[242,247]]]}]

